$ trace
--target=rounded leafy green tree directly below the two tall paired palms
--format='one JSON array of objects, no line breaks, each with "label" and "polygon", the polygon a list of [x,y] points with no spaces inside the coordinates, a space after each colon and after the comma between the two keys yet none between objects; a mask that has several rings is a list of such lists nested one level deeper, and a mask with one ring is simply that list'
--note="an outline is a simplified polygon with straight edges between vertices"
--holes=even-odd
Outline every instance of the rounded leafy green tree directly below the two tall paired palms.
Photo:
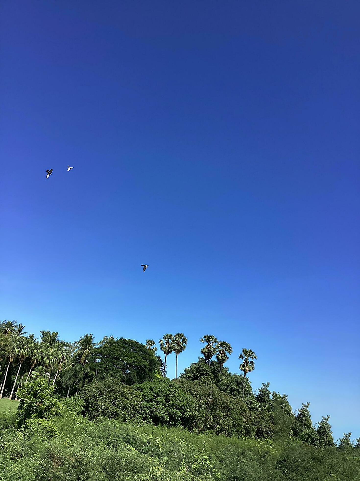
[{"label": "rounded leafy green tree directly below the two tall paired palms", "polygon": [[167,379],[156,379],[134,386],[141,394],[142,414],[145,421],[155,425],[193,426],[195,402],[179,383]]}]

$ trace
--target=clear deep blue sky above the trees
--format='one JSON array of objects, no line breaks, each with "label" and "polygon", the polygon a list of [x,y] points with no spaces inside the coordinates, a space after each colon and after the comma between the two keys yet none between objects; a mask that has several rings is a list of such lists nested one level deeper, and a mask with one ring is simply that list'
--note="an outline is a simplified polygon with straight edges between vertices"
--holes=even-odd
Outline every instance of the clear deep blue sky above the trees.
[{"label": "clear deep blue sky above the trees", "polygon": [[360,436],[359,15],[1,2],[1,319],[183,331],[180,370],[213,333],[234,372],[256,352],[254,388]]}]

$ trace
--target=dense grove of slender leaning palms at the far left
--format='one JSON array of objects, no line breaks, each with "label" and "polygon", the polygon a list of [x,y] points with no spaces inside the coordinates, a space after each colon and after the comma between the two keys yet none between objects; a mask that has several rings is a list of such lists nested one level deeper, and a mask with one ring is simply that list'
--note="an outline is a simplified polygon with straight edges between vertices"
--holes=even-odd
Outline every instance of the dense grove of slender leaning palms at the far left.
[{"label": "dense grove of slender leaning palms at the far left", "polygon": [[79,341],[70,343],[60,341],[57,332],[41,331],[39,341],[34,334],[25,334],[24,326],[16,321],[0,322],[0,399],[12,366],[17,369],[9,399],[14,393],[16,396],[17,387],[32,376],[44,376],[48,384],[54,386],[60,372],[63,372],[62,380],[68,386],[67,395],[72,387],[77,392],[95,346],[94,336],[85,334]]}]

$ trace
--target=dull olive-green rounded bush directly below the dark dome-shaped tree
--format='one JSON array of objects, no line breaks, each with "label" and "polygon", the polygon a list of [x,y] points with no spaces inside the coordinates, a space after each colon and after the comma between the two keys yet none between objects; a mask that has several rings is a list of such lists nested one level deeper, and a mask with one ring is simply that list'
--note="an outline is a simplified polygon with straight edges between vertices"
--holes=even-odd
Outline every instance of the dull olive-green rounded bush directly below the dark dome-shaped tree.
[{"label": "dull olive-green rounded bush directly below the dark dome-shaped tree", "polygon": [[119,379],[107,378],[87,384],[80,392],[83,412],[90,419],[107,417],[126,421],[141,418],[142,405],[139,392]]}]

